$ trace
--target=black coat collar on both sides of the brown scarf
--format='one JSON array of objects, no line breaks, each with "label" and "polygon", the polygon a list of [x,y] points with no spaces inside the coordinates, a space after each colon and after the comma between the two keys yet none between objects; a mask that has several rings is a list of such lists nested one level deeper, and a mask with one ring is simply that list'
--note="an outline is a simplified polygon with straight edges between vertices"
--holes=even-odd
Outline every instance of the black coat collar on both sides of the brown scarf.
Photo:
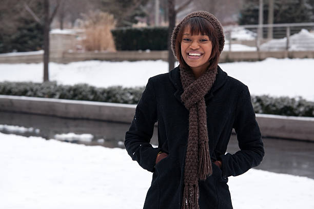
[{"label": "black coat collar on both sides of the brown scarf", "polygon": [[[217,70],[218,72],[217,72],[216,79],[212,85],[212,88],[205,95],[205,101],[208,101],[211,97],[213,97],[213,92],[220,89],[227,80],[227,73],[224,72],[219,66]],[[181,94],[183,93],[183,87],[182,87],[181,78],[180,78],[179,66],[169,72],[169,79],[172,82],[173,86],[176,88],[176,91],[174,92],[175,98],[178,99],[180,102],[182,102]]]}]

